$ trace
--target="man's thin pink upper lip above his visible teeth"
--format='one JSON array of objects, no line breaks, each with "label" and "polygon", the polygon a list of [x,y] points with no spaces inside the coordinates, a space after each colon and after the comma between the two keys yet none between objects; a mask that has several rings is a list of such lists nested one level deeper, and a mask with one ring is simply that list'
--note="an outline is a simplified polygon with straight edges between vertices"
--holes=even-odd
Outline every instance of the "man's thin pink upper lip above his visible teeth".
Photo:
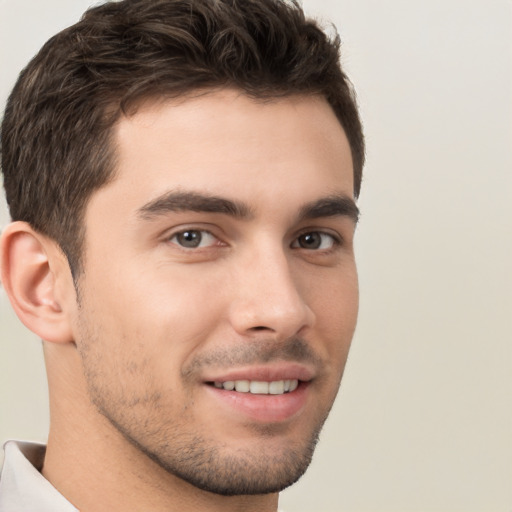
[{"label": "man's thin pink upper lip above his visible teeth", "polygon": [[315,376],[312,368],[299,363],[278,363],[272,365],[232,368],[205,376],[204,382],[227,382],[252,380],[273,382],[279,380],[310,381]]}]

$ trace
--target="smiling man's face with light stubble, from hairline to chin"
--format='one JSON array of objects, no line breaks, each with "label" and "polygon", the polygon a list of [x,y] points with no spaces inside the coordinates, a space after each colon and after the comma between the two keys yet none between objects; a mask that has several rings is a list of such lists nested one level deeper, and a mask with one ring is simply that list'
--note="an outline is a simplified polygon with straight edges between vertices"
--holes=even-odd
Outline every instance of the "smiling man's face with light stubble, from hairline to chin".
[{"label": "smiling man's face with light stubble, from hairline to chin", "polygon": [[196,487],[278,491],[310,462],[356,323],[343,129],[321,98],[223,90],[115,137],[74,323],[90,399]]}]

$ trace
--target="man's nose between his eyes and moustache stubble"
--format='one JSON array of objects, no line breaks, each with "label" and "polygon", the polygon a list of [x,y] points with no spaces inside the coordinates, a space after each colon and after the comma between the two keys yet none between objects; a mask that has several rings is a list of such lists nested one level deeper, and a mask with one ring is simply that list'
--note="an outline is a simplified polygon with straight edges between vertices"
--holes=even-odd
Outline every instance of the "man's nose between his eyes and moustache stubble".
[{"label": "man's nose between his eyes and moustache stubble", "polygon": [[242,336],[266,333],[276,340],[297,335],[315,323],[283,250],[260,251],[240,264],[233,282],[230,322]]}]

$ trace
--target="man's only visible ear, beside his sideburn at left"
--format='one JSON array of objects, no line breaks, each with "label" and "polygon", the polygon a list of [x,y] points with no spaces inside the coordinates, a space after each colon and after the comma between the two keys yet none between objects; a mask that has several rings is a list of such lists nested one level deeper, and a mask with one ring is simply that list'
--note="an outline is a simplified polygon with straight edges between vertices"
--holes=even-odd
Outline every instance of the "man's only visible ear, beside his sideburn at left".
[{"label": "man's only visible ear, beside his sideburn at left", "polygon": [[26,222],[13,222],[0,239],[0,268],[2,284],[23,324],[45,341],[73,341],[70,308],[76,297],[57,243]]}]

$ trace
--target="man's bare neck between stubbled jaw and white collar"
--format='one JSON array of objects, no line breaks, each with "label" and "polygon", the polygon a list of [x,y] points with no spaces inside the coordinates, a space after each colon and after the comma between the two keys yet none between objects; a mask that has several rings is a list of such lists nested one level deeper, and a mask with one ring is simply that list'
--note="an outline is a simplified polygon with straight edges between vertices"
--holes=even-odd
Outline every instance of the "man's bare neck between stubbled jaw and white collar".
[{"label": "man's bare neck between stubbled jaw and white collar", "polygon": [[80,512],[276,511],[277,494],[221,496],[167,472],[90,403],[74,345],[45,344],[45,358],[51,422],[43,476]]}]

